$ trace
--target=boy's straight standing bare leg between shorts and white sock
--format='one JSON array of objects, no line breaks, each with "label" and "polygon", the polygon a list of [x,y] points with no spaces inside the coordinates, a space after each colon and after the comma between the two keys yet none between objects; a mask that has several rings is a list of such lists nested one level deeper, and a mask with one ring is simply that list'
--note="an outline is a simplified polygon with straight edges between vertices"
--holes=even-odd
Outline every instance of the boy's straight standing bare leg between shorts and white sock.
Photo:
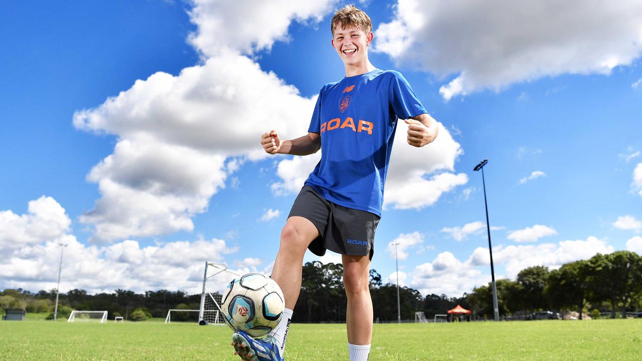
[{"label": "boy's straight standing bare leg between shorts and white sock", "polygon": [[348,342],[369,345],[372,339],[372,298],[370,298],[369,256],[342,256],[343,286],[348,299],[346,326]]}]

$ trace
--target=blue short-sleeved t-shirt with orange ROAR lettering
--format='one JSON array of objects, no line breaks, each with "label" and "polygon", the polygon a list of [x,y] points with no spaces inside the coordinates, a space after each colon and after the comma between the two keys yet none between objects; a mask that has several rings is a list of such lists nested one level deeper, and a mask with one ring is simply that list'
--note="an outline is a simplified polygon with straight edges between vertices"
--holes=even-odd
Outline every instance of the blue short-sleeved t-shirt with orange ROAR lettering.
[{"label": "blue short-sleeved t-shirt with orange ROAR lettering", "polygon": [[426,113],[401,73],[375,69],[325,84],[308,132],[321,161],[305,185],[343,207],[381,216],[397,119]]}]

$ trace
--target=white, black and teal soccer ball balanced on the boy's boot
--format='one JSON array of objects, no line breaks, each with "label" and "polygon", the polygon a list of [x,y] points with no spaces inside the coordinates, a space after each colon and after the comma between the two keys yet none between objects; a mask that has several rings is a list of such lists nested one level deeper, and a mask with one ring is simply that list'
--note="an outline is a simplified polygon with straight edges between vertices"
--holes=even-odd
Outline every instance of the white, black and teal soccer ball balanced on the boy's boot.
[{"label": "white, black and teal soccer ball balanced on the boy's boot", "polygon": [[283,292],[270,277],[248,273],[227,285],[221,311],[232,330],[264,337],[275,328],[285,308]]}]

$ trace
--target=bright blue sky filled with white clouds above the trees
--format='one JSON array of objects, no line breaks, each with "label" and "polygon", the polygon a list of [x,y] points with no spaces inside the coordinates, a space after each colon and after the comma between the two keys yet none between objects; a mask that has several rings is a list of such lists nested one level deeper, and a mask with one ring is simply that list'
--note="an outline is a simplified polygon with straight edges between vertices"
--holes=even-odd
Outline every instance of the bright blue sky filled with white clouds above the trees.
[{"label": "bright blue sky filled with white clouds above the trees", "polygon": [[[0,289],[199,293],[205,261],[269,274],[345,76],[322,0],[0,3]],[[372,268],[423,295],[642,254],[642,3],[361,1],[370,61],[439,122],[397,136]],[[398,131],[404,131],[401,123]],[[332,252],[305,261],[338,262]],[[231,274],[215,276],[215,291]]]}]

